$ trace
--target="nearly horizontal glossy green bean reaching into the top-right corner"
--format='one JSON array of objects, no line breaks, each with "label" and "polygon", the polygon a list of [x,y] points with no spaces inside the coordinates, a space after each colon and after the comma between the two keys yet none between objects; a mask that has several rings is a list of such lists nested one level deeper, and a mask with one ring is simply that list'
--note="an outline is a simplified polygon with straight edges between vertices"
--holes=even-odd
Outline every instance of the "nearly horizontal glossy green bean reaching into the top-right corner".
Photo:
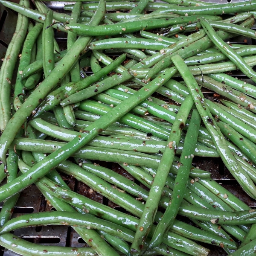
[{"label": "nearly horizontal glossy green bean reaching into the top-right corner", "polygon": [[159,9],[154,13],[172,12],[180,15],[223,15],[236,12],[247,12],[254,9],[254,1],[245,1],[244,3],[234,3],[230,6],[226,4],[215,4],[212,6],[189,6],[189,7],[171,7],[167,9]]}]

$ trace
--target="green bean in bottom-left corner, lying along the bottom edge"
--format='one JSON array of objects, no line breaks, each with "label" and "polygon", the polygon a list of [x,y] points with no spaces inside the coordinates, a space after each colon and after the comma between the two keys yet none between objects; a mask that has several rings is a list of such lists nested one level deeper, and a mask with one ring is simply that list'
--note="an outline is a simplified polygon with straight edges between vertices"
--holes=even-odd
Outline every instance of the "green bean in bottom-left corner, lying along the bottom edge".
[{"label": "green bean in bottom-left corner, lying along the bottom edge", "polygon": [[76,256],[77,253],[79,253],[81,256],[96,256],[95,252],[91,248],[62,247],[52,245],[45,246],[42,244],[31,243],[11,233],[1,235],[0,244],[3,247],[21,255],[41,256],[42,254],[47,254],[48,256],[57,256],[61,253],[65,256]]}]

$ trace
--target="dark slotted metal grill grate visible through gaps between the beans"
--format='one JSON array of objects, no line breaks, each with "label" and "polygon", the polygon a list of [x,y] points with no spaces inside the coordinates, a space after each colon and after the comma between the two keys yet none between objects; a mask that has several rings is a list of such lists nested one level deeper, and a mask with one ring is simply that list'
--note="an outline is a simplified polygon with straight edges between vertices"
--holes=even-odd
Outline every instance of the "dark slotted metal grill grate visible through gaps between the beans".
[{"label": "dark slotted metal grill grate visible through gaps between the beans", "polygon": [[[205,1],[208,1],[208,0],[205,0]],[[232,2],[239,2],[239,1],[240,0],[232,0]],[[226,0],[214,0],[214,1],[211,0],[211,2],[226,3]],[[227,0],[227,2],[230,3],[231,0]],[[65,2],[46,2],[46,4],[49,7],[51,7],[52,9],[55,9],[56,11],[61,11],[64,6],[64,3]],[[6,11],[8,12],[7,15],[6,15]],[[4,9],[3,6],[0,5],[0,15],[6,15],[6,20],[8,20],[9,17],[13,16],[13,13],[8,9]],[[0,23],[1,23],[1,20],[2,18],[0,18]],[[7,22],[5,21],[2,25],[0,24],[0,26],[2,26],[3,28],[2,31],[0,32],[0,55],[1,55],[0,57],[4,56],[5,54],[4,50],[1,51],[1,49],[6,47],[6,45],[9,43],[8,40],[4,41],[6,38],[4,31],[5,30],[7,31],[6,23]],[[15,23],[13,24],[13,26],[15,26]],[[253,29],[256,30],[256,27],[253,27]],[[58,41],[59,46],[65,49],[67,44],[66,34],[64,32],[56,32],[55,38]],[[245,39],[244,37],[238,36],[230,40],[230,43],[245,44],[244,39]],[[4,41],[5,43],[2,44],[2,41]],[[256,45],[256,41],[247,38],[247,44]],[[90,75],[92,72],[88,70],[85,73],[87,75]],[[243,79],[246,82],[253,83],[250,79],[247,79],[246,76],[244,76],[239,72],[233,72],[231,75],[234,77],[238,77],[239,79]],[[203,93],[209,99],[213,97],[213,93],[207,89],[204,89]],[[157,96],[157,93],[156,93],[156,96]],[[163,98],[163,96],[160,96],[160,95],[158,96]],[[144,189],[147,189],[145,186],[143,186],[143,184],[141,184],[138,180],[135,180],[134,177],[132,177],[128,172],[122,169],[122,167],[120,167],[118,164],[100,162],[100,161],[95,161],[95,162],[99,163],[101,166],[112,169],[113,171],[123,175],[124,177],[127,177],[130,180],[133,180],[134,182],[142,186]],[[214,159],[210,157],[195,157],[193,159],[193,163],[199,166],[200,169],[211,172],[213,180],[216,180],[217,182],[222,183],[222,186],[224,186],[226,189],[228,189],[230,192],[232,192],[234,195],[236,195],[240,200],[244,201],[250,207],[256,208],[256,201],[250,198],[241,189],[237,181],[232,177],[230,172],[224,166],[221,159],[218,159],[218,158]],[[92,200],[108,205],[121,212],[126,212],[125,209],[122,209],[121,207],[109,201],[108,198],[105,198],[99,193],[97,192],[89,193],[90,187],[88,187],[84,183],[81,183],[80,181],[77,181],[73,177],[69,177],[67,175],[62,175],[62,177],[64,181],[67,183],[67,185],[70,187],[70,189],[72,189],[73,191],[81,195],[87,196]],[[1,207],[2,207],[2,203],[0,204],[0,208]],[[44,212],[44,211],[50,211],[50,210],[54,210],[54,208],[47,204],[46,199],[41,195],[41,192],[37,189],[37,187],[35,185],[31,185],[28,188],[26,188],[23,192],[21,192],[20,198],[17,201],[17,205],[15,207],[13,218],[16,217],[17,215],[23,215],[26,213]],[[183,218],[182,216],[178,216],[178,218],[180,220],[187,221],[186,218]],[[15,230],[14,234],[16,236],[22,237],[27,241],[31,241],[39,244],[45,244],[45,245],[58,245],[58,246],[70,246],[70,247],[87,247],[88,246],[83,241],[83,239],[81,239],[81,237],[71,227],[67,227],[67,226],[28,227],[28,228]],[[209,256],[226,256],[227,255],[227,253],[225,253],[224,250],[222,250],[220,247],[216,247],[210,244],[202,244],[202,245],[204,245],[205,247],[211,250],[211,253],[209,254]],[[3,247],[0,249],[1,249],[0,256],[17,256],[18,255],[10,250],[4,249]]]}]

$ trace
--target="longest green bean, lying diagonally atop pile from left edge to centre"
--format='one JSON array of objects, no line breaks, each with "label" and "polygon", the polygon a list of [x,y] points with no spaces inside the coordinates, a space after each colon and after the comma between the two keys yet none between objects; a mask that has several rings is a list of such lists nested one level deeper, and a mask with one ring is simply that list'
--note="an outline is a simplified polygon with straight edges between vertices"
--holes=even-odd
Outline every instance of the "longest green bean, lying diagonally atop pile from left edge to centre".
[{"label": "longest green bean, lying diagonally atop pile from left edge to centre", "polygon": [[[171,68],[169,72],[163,76],[164,79],[160,76],[156,80],[153,80],[151,83],[149,83],[149,85],[145,86],[143,90],[140,89],[137,93],[134,93],[134,95],[130,96],[129,99],[125,100],[124,102],[121,102],[118,105],[118,107],[113,108],[111,111],[106,113],[100,119],[93,122],[93,124],[87,128],[87,131],[89,132],[80,133],[79,136],[73,139],[70,143],[67,143],[67,145],[65,145],[61,149],[57,149],[51,155],[49,155],[44,160],[42,160],[40,164],[38,163],[37,165],[33,166],[29,170],[29,172],[26,172],[25,175],[21,175],[19,178],[16,178],[9,184],[3,185],[0,188],[0,200],[4,200],[8,198],[10,195],[14,195],[15,193],[24,189],[26,186],[29,186],[30,184],[35,182],[35,180],[37,180],[39,177],[42,177],[42,175],[45,175],[45,173],[48,173],[49,169],[52,169],[52,167],[57,166],[63,160],[67,159],[79,148],[81,148],[83,145],[85,145],[91,139],[93,139],[96,135],[98,135],[102,130],[108,128],[109,125],[111,125],[121,116],[125,115],[127,111],[129,111],[135,105],[138,105],[140,101],[143,101],[145,98],[150,96],[151,93],[157,90],[157,88],[160,87],[164,83],[164,81],[168,80],[168,77],[170,78],[175,72],[176,72],[176,69]],[[26,100],[26,102],[27,101],[28,99]],[[124,105],[125,107],[122,105]],[[2,138],[3,138],[3,134],[1,139]],[[5,144],[4,146],[6,145],[7,144]],[[67,148],[67,151],[65,148]],[[65,152],[65,154],[63,154],[63,152]],[[54,159],[54,161],[52,161],[52,159]],[[34,173],[35,170],[37,171]],[[23,182],[19,182],[21,180]],[[15,183],[15,188],[12,187],[12,183]]]}]

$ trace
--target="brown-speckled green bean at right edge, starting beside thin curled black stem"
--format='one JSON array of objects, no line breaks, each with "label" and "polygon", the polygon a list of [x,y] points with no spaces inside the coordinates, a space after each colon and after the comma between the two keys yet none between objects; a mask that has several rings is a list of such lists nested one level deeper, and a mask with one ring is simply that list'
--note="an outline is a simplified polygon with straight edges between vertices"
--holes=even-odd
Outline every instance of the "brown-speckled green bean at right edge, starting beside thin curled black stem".
[{"label": "brown-speckled green bean at right edge, starting beside thin curled black stem", "polygon": [[[195,76],[195,79],[200,85],[202,85],[201,77]],[[234,103],[240,104],[244,107],[249,107],[250,111],[256,113],[256,110],[254,108],[254,106],[256,106],[256,100],[250,98],[243,93],[238,92],[237,90],[233,90],[230,86],[222,84],[221,82],[217,82],[214,79],[209,78],[208,76],[204,76],[204,87],[215,91],[215,93],[218,93],[221,96],[227,97]]]}]

